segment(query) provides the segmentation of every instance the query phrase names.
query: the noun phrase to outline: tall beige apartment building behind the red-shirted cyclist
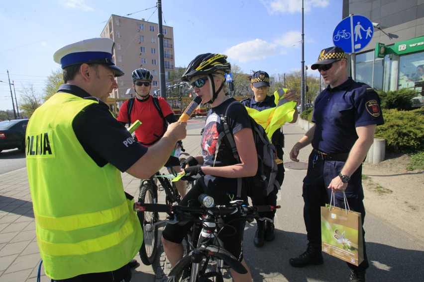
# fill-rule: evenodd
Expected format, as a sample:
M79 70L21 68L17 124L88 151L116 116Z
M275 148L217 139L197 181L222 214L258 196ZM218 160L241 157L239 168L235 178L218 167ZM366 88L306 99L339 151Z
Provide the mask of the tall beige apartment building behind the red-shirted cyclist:
M125 75L116 77L119 89L115 89L111 98L131 98L134 96L132 89L131 72L138 68L150 70L153 74L153 93L159 90L159 24L111 15L107 21L101 37L111 38L115 42L113 60ZM174 70L174 29L171 26L162 26L165 79L168 80ZM168 85L168 83L166 83Z

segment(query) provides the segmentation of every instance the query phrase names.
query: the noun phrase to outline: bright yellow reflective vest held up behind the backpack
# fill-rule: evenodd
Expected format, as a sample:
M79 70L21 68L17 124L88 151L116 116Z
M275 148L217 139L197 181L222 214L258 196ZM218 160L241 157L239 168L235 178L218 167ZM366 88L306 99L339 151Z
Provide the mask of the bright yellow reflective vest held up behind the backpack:
M272 135L277 129L282 127L286 122L291 122L293 120L296 102L289 102L284 98L287 90L288 89L280 88L274 92L274 102L277 105L275 108L258 111L246 107L249 116L265 129L269 140L271 140Z

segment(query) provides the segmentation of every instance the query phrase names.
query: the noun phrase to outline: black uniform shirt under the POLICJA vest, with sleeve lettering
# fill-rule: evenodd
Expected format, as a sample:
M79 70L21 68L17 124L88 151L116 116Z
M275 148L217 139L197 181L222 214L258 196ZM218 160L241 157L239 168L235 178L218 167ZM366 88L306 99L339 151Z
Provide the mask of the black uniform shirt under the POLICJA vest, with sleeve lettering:
M78 113L72 123L75 135L84 150L98 166L103 167L111 163L124 172L147 151L146 147L132 142L127 129L116 121L103 101L91 97L89 93L72 84L62 84L57 92L99 101L99 104L89 105Z

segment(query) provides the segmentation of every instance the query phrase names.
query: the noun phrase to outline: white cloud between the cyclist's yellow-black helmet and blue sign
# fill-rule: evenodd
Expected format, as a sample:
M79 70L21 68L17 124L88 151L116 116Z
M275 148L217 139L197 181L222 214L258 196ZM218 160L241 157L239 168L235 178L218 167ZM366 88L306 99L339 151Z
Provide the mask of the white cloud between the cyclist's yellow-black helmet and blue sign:
M246 41L230 47L225 50L225 54L231 59L245 63L249 61L259 61L277 55L278 51L276 47L276 44L256 38L255 40Z

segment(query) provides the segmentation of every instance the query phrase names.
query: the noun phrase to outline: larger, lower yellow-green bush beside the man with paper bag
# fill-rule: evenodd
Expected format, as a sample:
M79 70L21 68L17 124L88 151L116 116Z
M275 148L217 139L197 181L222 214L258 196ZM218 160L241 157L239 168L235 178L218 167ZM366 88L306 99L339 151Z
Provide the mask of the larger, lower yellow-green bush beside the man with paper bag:
M386 139L386 148L411 152L424 149L424 108L413 111L383 110L384 125L378 126L376 138Z

